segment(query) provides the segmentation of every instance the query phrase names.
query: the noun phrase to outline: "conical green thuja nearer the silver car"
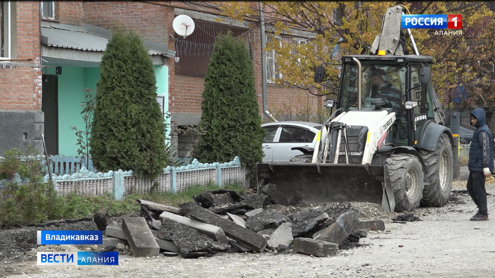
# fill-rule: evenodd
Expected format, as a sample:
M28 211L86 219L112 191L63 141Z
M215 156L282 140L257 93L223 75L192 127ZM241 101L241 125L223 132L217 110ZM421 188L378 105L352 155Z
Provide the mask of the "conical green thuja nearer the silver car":
M202 162L239 156L245 166L261 162L261 128L251 58L245 43L230 33L219 36L204 79L201 121L206 133L198 144Z

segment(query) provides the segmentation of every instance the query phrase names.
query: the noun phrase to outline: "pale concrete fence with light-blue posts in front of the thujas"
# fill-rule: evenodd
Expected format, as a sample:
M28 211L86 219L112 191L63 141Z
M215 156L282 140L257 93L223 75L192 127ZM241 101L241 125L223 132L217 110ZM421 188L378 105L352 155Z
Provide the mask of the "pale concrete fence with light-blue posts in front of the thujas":
M122 199L125 193L147 193L153 188L158 192L175 193L187 189L192 185L205 185L214 182L218 186L227 183L241 183L247 185L247 167L241 166L239 157L225 163L199 163L197 159L187 166L168 166L155 179L137 178L133 171L108 171L94 173L82 167L79 173L72 175L52 174L53 186L62 196L71 192L78 195L102 195L112 193L114 199ZM45 176L48 182L49 175Z

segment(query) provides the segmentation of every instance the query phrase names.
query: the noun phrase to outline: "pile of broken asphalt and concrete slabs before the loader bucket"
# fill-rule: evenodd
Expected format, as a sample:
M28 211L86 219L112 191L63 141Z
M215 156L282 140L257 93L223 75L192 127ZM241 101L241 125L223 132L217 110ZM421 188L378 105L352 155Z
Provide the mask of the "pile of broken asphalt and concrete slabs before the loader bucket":
M234 190L203 191L194 202L180 208L145 200L141 217L110 222L107 210L95 215L105 231L102 247L128 255L209 257L219 252L292 253L334 256L339 246L360 246L367 231L385 230L384 222L360 222L347 210L329 215L322 207L308 207L282 214L273 205L289 205L275 185L265 185L260 194L239 195Z

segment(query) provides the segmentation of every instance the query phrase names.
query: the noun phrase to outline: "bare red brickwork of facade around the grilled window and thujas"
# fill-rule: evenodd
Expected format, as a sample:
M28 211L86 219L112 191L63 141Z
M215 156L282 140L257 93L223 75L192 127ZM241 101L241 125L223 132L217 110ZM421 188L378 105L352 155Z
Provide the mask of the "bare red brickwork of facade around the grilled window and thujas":
M84 2L84 22L103 28L124 27L127 30L139 32L144 39L164 43L174 50L174 42L169 35L174 36L172 21L174 8L140 2ZM203 8L204 9L204 8ZM207 11L206 9L204 9ZM197 32L200 32L198 30ZM261 50L259 28L251 31L251 47L253 49L254 71L256 73L256 93L260 113L262 113L262 86L261 86ZM174 59L168 59L169 66L169 112L177 113L201 113L201 94L203 92L203 78L176 76L174 72ZM316 111L316 107L322 104L322 99L314 97L293 88L267 86L267 102L270 112L273 107L281 112L288 105L300 103L310 105ZM297 104L298 105L298 104ZM294 107L293 110L295 110ZM179 123L180 125L180 123Z

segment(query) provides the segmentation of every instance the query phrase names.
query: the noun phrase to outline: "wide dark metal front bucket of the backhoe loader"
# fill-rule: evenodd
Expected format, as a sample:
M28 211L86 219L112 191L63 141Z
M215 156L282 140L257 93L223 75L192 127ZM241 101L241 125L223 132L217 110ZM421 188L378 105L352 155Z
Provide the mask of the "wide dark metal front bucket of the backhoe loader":
M384 166L362 164L258 163L258 185L274 184L288 200L318 204L370 202L394 211L392 186ZM387 175L388 176L388 175ZM382 182L383 181L383 182Z

